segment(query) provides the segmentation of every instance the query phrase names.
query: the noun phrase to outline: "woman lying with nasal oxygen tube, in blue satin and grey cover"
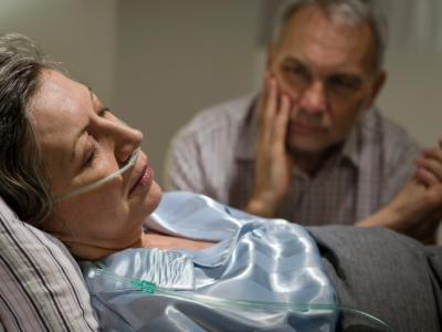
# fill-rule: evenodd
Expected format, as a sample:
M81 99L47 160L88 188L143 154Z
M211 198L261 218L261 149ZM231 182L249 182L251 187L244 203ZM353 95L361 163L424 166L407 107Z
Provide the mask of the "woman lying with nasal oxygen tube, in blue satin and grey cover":
M104 330L386 326L346 305L400 331L441 328L441 248L380 228L305 229L190 193L160 203L141 139L32 41L0 38L0 195L82 260ZM441 148L418 164L399 196L361 225L417 227L438 211ZM134 289L141 279L172 291L150 297L139 291L146 283ZM296 303L309 308L287 309Z

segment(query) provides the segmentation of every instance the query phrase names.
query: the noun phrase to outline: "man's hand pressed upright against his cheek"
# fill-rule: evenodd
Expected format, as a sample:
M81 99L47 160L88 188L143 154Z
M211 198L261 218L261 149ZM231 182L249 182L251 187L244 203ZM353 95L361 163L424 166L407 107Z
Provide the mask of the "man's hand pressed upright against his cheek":
M285 142L291 116L290 97L281 92L273 76L265 80L259 101L259 139L254 189L245 210L274 217L290 187L293 160Z

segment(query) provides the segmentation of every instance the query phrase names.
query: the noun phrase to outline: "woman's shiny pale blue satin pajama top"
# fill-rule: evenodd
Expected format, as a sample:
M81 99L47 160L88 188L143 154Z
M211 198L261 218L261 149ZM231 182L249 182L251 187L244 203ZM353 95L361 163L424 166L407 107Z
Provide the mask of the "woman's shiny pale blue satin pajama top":
M107 271L158 287L220 299L336 303L315 241L301 226L264 219L206 196L167 193L146 220L155 229L214 246L200 251L127 249L99 261ZM103 331L334 331L335 311L281 312L210 305L150 295L93 272L83 273Z

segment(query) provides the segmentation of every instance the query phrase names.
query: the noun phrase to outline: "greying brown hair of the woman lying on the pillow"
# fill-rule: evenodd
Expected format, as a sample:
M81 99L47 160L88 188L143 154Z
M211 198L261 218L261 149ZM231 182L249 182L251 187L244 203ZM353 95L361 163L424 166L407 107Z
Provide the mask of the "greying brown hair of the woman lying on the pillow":
M44 69L59 70L32 40L0 35L0 196L21 220L35 226L52 209L29 112Z

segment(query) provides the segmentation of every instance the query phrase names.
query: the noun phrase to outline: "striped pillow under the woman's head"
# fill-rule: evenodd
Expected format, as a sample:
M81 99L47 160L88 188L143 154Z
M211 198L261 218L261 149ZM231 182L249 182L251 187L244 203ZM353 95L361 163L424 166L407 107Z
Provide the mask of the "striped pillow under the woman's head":
M97 331L78 266L0 198L0 320L7 331ZM1 331L0 325L0 331Z

